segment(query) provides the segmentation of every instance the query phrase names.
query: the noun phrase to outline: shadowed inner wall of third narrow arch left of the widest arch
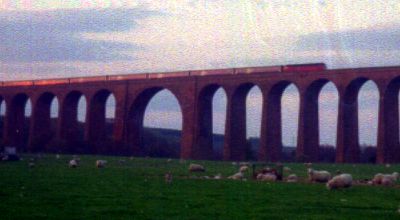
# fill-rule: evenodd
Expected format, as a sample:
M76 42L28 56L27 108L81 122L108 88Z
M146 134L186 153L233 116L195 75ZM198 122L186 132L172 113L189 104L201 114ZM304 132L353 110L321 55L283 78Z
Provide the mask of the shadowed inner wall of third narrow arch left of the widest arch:
M56 121L51 118L51 106L54 100L57 100L54 93L44 92L35 103L32 118L32 135L29 140L29 146L33 152L45 150L54 152L56 150L52 149L55 146L48 146L56 135Z

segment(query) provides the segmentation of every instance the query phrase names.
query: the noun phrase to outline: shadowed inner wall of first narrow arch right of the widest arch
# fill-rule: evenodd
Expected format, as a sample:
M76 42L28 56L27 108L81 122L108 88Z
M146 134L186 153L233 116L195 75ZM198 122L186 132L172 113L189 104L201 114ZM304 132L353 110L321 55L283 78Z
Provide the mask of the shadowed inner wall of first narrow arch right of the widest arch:
M193 154L195 159L222 159L223 141L222 144L214 141L215 108L213 105L214 97L219 90L222 90L226 98L226 91L219 84L204 86L197 97L197 130Z

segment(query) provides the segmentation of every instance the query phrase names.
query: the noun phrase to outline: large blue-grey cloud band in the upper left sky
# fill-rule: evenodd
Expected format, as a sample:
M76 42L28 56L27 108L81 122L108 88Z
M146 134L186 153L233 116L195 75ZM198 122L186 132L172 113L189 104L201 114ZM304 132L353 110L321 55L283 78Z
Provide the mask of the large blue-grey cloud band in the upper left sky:
M136 20L161 15L139 9L55 10L0 13L0 61L132 60L123 51L140 45L88 40L82 33L128 31Z

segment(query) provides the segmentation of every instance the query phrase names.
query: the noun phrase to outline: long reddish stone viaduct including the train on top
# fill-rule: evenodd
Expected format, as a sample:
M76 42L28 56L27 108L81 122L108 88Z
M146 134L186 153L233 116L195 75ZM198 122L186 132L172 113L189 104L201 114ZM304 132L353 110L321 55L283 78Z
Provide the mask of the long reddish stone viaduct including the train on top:
M223 158L245 159L247 93L258 86L263 95L259 160L279 161L282 152L281 96L293 83L299 90L300 113L297 156L318 160L318 95L332 82L339 95L336 162L358 162L357 96L368 80L379 89L377 162L400 162L399 103L400 67L326 69L324 64L197 70L172 73L8 81L0 85L0 103L6 103L3 145L19 151L50 151L50 139L66 143L73 152L77 132L77 105L87 100L84 140L87 153L142 155L144 111L150 99L168 89L177 98L183 117L181 158L209 159L212 155L212 97L223 88L227 95L227 114ZM105 103L113 94L116 100L113 143L98 147L105 139ZM50 134L50 105L59 101L59 116L54 135ZM32 103L29 131L24 131L24 107ZM29 132L29 134L26 134ZM25 134L24 134L25 133ZM24 140L24 135L28 140ZM69 145L71 143L71 145ZM97 143L97 145L96 145ZM53 149L54 150L54 149Z

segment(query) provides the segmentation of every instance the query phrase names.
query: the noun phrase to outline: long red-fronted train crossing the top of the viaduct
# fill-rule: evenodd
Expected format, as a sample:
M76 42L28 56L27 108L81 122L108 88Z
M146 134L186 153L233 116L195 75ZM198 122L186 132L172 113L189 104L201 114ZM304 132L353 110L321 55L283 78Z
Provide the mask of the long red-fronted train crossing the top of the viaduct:
M324 70L326 70L325 63L309 63L309 64L289 64L283 66L193 70L193 71L181 71L181 72L169 72L169 73L140 73L140 74L129 74L129 75L106 75L106 76L73 77L73 78L60 78L60 79L3 81L0 83L0 86L2 87L43 86L43 85L56 85L56 84L73 84L73 83L84 83L84 82L86 83L86 82L135 80L135 79L140 80L140 79L160 79L160 78L211 76L211 75L237 75L237 74L255 74L255 73L318 72Z

